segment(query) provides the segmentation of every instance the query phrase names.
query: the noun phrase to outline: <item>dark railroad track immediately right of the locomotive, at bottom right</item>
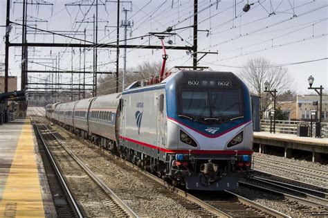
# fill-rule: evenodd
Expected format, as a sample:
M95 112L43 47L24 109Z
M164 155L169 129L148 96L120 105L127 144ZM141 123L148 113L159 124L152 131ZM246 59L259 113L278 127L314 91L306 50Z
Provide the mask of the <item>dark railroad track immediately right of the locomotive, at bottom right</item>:
M327 199L305 194L304 192L300 192L298 190L292 190L293 192L297 192L298 194L304 195L305 198L296 197L292 194L287 194L285 192L277 191L273 188L268 188L268 181L264 181L264 183L266 185L263 185L263 181L261 179L257 179L257 182L251 182L251 183L240 181L239 186L243 188L249 188L251 190L257 190L260 192L273 194L274 196L277 197L276 201L280 201L281 203L291 206L291 208L293 208L294 210L298 210L302 212L303 215L311 216L311 217L328 216ZM291 191L291 189L289 189L289 191ZM320 201L320 203L318 203L318 201Z

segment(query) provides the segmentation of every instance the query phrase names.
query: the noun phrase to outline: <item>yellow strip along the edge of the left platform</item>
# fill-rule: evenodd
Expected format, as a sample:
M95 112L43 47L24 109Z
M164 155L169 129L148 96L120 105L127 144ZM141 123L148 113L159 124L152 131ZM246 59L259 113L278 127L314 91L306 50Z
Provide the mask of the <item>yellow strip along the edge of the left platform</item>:
M33 129L26 119L0 202L0 217L44 217Z

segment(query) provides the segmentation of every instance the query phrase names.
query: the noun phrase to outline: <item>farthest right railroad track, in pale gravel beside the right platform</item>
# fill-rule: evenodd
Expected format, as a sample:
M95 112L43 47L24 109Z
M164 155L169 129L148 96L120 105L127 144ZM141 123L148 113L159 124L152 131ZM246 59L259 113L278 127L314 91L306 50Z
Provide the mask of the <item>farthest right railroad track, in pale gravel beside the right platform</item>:
M328 181L328 172L326 170L313 169L283 161L273 161L268 158L254 157L254 164L258 166L271 167L275 170L297 174L299 176L307 176L318 181Z

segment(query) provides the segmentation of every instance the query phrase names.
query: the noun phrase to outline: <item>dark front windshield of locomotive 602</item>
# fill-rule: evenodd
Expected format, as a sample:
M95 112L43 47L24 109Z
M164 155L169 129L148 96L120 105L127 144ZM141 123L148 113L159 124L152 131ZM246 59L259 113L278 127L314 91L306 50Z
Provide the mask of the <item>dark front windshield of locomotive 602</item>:
M242 115L239 91L181 91L180 112L192 118Z

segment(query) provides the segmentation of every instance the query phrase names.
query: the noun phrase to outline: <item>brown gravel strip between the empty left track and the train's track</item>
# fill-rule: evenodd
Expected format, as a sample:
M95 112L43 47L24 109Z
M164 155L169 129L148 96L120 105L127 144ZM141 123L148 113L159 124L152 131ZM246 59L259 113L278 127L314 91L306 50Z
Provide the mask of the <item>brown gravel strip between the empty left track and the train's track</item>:
M138 215L147 217L197 217L176 201L156 191L154 181L145 178L131 167L119 163L115 158L87 142L80 143L75 136L53 126L75 154L87 163L90 169L106 183L118 197ZM96 160L96 161L95 161Z

